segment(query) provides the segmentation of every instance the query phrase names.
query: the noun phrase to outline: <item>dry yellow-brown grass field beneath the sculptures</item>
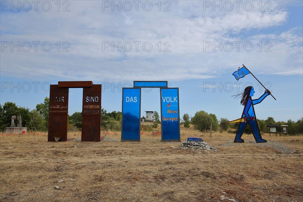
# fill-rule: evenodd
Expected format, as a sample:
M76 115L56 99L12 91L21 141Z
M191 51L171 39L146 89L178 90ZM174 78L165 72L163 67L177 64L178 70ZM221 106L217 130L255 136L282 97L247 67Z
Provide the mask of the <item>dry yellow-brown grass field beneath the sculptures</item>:
M47 135L0 135L0 201L303 201L303 136L233 143L234 134L181 128L218 151L185 149L141 135L121 142L47 142ZM57 188L55 188L57 186Z

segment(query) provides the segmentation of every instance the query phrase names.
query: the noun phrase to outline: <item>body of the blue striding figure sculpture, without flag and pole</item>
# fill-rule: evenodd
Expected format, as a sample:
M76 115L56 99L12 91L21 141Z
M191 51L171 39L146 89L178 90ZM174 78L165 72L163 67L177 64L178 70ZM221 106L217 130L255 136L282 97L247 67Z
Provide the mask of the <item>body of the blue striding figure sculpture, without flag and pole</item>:
M244 92L242 93L242 98L241 98L241 104L244 105L244 110L242 113L242 117L244 118L245 122L241 122L238 127L238 131L235 137L234 142L244 142L243 139L241 139L241 136L244 132L245 127L247 124L249 124L252 133L254 134L256 142L267 142L265 139L262 139L257 118L256 118L256 113L254 109L254 105L257 105L263 101L265 97L270 95L270 91L266 90L265 93L259 97L258 99L251 99L251 96L253 96L255 93L255 89L252 86L247 86L244 89Z

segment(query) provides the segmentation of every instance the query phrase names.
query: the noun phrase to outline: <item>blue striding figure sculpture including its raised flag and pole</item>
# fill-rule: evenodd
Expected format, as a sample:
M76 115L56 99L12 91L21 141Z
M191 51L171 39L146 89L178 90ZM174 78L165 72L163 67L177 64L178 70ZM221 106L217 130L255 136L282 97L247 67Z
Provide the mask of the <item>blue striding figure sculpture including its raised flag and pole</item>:
M235 71L232 75L239 80L240 78L243 78L245 75L251 74L252 76L255 77L254 74L252 74L244 65L242 68L239 68L237 71ZM255 79L257 79L255 77ZM266 87L257 79L257 81L266 89ZM242 116L240 119L236 119L233 121L226 122L224 124L229 124L229 123L239 123L237 134L235 136L234 142L244 142L243 139L241 139L241 136L244 132L245 127L247 124L250 126L252 133L254 134L255 140L258 143L261 142L267 142L265 139L262 138L261 132L258 126L257 122L257 117L255 113L255 108L254 105L257 105L261 103L265 97L268 95L271 95L274 99L276 99L271 92L266 89L265 93L259 97L258 99L251 99L251 96L253 96L255 93L255 89L252 86L247 86L242 92L239 94L235 95L235 97L241 97L241 105L244 106Z

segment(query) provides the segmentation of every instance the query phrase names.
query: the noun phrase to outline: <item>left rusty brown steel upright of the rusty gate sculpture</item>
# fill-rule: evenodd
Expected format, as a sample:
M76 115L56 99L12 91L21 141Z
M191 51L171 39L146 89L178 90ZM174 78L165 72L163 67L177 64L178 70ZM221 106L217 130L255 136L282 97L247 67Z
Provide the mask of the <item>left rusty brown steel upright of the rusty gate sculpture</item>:
M68 88L51 85L49 89L48 141L67 140Z

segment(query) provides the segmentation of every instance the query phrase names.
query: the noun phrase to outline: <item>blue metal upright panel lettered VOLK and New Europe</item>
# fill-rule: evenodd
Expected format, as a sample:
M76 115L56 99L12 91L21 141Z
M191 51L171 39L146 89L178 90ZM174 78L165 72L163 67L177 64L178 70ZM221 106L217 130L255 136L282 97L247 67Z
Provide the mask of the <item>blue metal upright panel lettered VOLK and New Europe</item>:
M161 89L162 141L180 141L179 88Z

